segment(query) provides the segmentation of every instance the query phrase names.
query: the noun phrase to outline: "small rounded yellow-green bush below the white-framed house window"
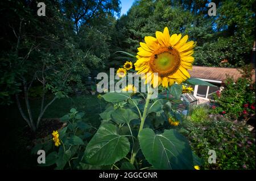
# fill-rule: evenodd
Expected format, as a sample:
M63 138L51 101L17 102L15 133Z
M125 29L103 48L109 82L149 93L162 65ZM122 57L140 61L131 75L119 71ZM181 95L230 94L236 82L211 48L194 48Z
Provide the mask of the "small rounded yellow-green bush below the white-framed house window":
M208 108L203 106L197 106L192 110L191 121L195 123L201 123L208 119Z

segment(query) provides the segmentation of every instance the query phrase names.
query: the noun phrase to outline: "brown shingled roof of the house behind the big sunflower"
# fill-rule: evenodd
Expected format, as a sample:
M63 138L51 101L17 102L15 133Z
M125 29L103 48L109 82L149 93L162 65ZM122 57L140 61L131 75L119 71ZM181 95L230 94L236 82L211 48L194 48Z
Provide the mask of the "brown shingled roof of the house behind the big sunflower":
M255 70L253 80L255 81ZM241 73L236 68L216 68L208 66L193 66L192 70L188 70L191 77L211 79L216 81L224 81L226 74L232 76L235 80L241 77Z

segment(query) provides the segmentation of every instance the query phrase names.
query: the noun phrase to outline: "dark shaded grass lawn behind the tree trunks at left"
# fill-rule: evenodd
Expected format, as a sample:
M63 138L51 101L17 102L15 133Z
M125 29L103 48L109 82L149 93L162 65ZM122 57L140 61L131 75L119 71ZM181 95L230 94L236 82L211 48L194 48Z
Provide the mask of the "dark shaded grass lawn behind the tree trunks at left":
M72 98L55 100L48 107L43 118L62 117L71 108L85 112L85 120L92 123L94 127L100 125L101 107L104 103L97 99L97 95L81 95ZM24 105L24 103L23 103ZM27 140L22 137L22 132L27 126L20 116L16 104L1 107L1 165L10 169L32 169L36 167L36 155L33 156L27 149ZM40 110L40 99L31 100L31 111L38 115ZM26 110L24 110L26 111ZM35 116L36 117L36 116Z

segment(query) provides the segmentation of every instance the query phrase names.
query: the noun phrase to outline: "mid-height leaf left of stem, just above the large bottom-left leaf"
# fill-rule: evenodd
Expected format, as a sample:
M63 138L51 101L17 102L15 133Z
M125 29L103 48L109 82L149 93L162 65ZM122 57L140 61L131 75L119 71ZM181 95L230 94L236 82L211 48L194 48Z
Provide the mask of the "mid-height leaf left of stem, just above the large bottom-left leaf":
M137 113L131 111L130 109L117 109L111 114L112 120L116 123L129 123L131 120L138 119Z

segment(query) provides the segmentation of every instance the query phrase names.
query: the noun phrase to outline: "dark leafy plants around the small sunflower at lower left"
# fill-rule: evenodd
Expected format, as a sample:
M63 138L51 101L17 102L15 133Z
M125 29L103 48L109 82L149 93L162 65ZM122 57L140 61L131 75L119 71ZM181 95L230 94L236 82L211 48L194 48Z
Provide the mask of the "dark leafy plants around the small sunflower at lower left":
M40 166L54 165L55 169L77 169L80 167L82 155L87 144L86 133L92 132L92 126L82 121L84 113L72 108L67 115L61 117L61 121L67 126L59 130L60 146L56 147L51 136L38 139L38 144L32 149L36 154L39 149L46 151L46 163Z

